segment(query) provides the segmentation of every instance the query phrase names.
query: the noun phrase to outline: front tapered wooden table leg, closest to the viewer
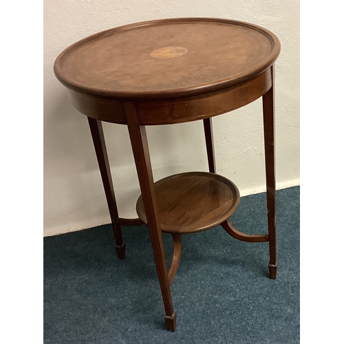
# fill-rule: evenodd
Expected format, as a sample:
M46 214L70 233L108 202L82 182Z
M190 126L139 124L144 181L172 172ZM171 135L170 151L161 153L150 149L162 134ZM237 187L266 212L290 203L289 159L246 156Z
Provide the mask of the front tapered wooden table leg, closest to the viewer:
M165 323L167 330L174 331L176 326L176 314L173 310L170 281L166 266L166 256L164 244L162 241L162 232L158 219L158 206L155 200L155 191L153 186L153 173L151 169L151 160L149 157L149 148L147 142L146 129L138 124L136 118L136 109L132 103L126 103L125 111L128 121L129 136L133 157L138 172L138 180L142 193L144 211L147 216L151 244L155 258L156 268L160 281L162 299L165 308Z

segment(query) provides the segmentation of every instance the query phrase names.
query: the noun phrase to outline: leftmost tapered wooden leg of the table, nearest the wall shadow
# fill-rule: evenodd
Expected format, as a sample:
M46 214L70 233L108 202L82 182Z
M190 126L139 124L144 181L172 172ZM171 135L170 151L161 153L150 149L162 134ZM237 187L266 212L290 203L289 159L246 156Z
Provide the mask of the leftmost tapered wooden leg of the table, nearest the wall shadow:
M114 184L112 183L109 159L107 158L107 149L105 145L102 122L100 122L100 120L95 120L94 118L90 117L88 117L88 122L89 129L91 129L94 149L96 150L100 175L102 176L103 180L105 195L107 197L107 206L109 207L112 229L114 230L116 241L116 252L118 258L124 259L125 243L122 239L122 231L120 229L120 224L118 224L118 210L114 192Z

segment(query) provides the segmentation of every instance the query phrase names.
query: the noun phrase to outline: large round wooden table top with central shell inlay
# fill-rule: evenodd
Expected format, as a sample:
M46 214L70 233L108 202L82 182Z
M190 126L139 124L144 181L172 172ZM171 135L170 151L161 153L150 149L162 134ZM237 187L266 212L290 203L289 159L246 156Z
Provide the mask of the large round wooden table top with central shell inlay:
M74 91L117 99L169 99L229 89L264 72L279 39L228 19L147 21L99 32L67 47L54 64Z

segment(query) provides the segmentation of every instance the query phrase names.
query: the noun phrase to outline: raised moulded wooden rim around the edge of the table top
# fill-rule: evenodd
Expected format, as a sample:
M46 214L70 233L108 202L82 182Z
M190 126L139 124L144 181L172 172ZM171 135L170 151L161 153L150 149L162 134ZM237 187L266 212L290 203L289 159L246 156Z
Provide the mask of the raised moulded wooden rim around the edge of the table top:
M74 49L84 45L85 43L89 43L90 41L94 41L97 39L103 39L107 36L111 36L112 34L118 34L120 32L125 32L126 30L133 30L140 27L144 27L147 25L164 25L166 23L192 23L195 21L205 21L205 22L215 22L215 23L222 23L222 24L235 24L241 25L246 28L250 28L252 30L256 30L264 34L268 37L271 41L272 50L266 58L265 61L260 63L259 65L255 66L255 68L249 70L245 74L238 75L237 77L231 76L231 78L224 78L222 80L216 80L212 83L206 83L204 85L197 85L193 87L180 87L178 89L161 89L161 90L150 90L150 91L138 91L138 92L128 92L128 91L114 91L114 90L106 90L106 89L97 89L95 87L89 87L82 85L80 83L75 82L71 78L68 77L63 72L63 61L64 58L73 52ZM177 99L177 98L186 98L186 97L194 97L194 96L204 96L206 94L211 94L213 92L222 92L226 89L230 89L236 87L237 85L241 85L242 83L246 83L247 81L255 78L261 72L264 72L270 65L272 65L277 57L279 56L279 52L281 50L281 45L279 43L279 39L275 34L266 30L265 28L261 28L258 25L252 23L246 23L244 21L235 21L232 19L217 19L217 18L201 18L201 17L191 17L191 18L173 18L173 19L158 19L154 21L143 21L140 23L133 23L129 25L122 25L117 28L112 28L109 30L105 30L102 32L98 32L93 34L92 36L88 36L85 39L81 39L76 43L67 47L61 54L58 55L56 61L54 63L54 74L56 78L65 85L65 87L69 89L73 89L76 92L80 92L83 94L90 94L93 96L100 96L103 98L114 98L118 100L158 100L158 99Z

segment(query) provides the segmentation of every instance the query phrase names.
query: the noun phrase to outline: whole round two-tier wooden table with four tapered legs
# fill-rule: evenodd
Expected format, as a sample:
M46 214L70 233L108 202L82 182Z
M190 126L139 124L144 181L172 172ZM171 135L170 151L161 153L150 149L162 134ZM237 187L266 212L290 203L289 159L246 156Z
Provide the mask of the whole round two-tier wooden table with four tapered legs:
M243 241L268 241L270 278L276 278L274 63L275 34L226 19L183 18L114 28L74 43L54 64L72 104L89 121L103 179L116 252L125 258L120 225L148 224L168 330L175 330L171 283L180 261L181 235L220 224ZM211 118L263 97L268 234L246 235L230 224L239 191L215 173ZM209 172L153 182L145 127L203 120ZM141 195L138 219L118 217L102 121L127 125ZM174 242L166 266L162 231Z

